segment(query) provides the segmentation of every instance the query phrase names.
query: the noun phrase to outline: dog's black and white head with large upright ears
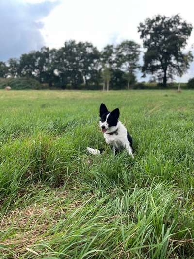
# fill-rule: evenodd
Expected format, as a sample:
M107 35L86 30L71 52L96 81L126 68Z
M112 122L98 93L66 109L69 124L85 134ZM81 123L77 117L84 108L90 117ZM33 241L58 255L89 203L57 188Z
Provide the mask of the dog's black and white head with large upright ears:
M108 111L105 104L100 105L100 127L103 133L113 132L117 129L119 109Z

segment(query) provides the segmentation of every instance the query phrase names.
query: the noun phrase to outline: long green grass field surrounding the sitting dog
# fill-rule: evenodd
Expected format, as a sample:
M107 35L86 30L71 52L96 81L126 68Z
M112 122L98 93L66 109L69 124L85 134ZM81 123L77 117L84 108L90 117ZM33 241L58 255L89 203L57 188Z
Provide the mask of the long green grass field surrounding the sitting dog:
M105 145L101 102L134 160ZM194 91L1 90L0 206L0 258L194 258Z

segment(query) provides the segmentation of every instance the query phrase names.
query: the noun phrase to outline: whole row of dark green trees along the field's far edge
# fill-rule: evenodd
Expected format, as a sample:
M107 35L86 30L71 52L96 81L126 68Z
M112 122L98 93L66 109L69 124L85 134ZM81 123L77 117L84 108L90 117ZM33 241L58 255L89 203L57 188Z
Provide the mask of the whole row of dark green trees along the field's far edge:
M29 77L50 87L77 89L80 85L99 86L103 90L130 88L136 82L136 73L162 83L182 76L193 60L191 51L185 52L192 25L179 15L157 15L147 18L138 26L143 40L143 65L140 66L141 47L132 40L114 46L107 45L99 51L92 43L65 42L60 49L43 47L39 51L22 54L0 62L0 77Z

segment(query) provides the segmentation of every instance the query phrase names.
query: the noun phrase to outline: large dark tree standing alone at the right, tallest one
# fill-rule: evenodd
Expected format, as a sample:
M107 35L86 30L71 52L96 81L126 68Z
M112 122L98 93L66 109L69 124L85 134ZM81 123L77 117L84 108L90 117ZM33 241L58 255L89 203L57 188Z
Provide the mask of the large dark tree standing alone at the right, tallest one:
M191 52L184 53L183 50L191 35L192 25L179 15L147 18L144 23L140 23L138 32L146 49L142 67L144 76L146 73L156 74L163 81L163 86L166 86L168 78L181 75L185 66L189 68L193 57Z

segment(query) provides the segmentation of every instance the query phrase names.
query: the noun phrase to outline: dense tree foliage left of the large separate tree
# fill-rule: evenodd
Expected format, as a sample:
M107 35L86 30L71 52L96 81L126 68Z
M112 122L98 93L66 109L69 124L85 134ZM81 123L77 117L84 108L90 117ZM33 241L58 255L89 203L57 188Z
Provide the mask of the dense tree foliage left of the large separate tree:
M49 84L50 88L101 89L102 70L106 67L110 70L110 76L105 81L110 82L113 89L118 88L118 84L122 89L129 82L130 85L134 83L138 48L135 42L124 41L117 47L107 45L100 53L89 42L70 40L59 50L43 47L40 51L21 55L19 60L10 59L8 75L34 78L40 83Z

